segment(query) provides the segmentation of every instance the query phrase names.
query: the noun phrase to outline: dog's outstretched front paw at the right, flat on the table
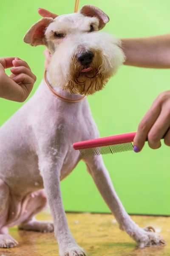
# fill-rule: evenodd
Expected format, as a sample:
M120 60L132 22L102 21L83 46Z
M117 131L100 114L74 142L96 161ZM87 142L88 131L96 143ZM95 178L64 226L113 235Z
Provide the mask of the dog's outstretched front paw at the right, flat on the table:
M145 227L142 230L142 233L133 234L132 237L140 248L166 244L164 239L155 233L155 229L153 227Z

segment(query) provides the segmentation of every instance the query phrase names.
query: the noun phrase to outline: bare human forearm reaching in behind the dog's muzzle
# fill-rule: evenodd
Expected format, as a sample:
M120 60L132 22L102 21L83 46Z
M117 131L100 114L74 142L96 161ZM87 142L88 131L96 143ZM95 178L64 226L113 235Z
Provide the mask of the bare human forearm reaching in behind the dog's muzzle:
M144 38L122 38L125 65L170 68L170 34Z

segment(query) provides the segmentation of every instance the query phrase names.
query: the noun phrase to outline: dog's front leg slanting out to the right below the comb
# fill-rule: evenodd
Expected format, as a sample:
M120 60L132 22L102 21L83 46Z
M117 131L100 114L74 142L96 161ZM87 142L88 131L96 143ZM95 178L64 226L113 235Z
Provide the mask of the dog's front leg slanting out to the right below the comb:
M165 242L161 237L159 237L156 233L150 232L152 228L140 228L127 214L121 201L116 195L102 157L86 157L84 161L87 165L88 172L93 177L100 194L118 221L120 229L125 230L141 248L145 246L164 244Z

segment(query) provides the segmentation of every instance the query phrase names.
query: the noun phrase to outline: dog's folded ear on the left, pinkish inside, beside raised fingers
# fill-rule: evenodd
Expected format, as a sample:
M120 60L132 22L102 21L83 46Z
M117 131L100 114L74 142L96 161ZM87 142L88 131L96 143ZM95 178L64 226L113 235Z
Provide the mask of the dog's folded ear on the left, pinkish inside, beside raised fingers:
M45 45L45 29L53 22L53 18L42 18L26 32L23 41L31 46Z

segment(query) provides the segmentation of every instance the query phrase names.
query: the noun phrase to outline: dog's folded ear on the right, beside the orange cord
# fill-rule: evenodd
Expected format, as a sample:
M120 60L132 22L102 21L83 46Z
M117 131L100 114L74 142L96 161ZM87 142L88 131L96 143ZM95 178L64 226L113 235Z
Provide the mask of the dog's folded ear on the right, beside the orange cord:
M109 22L109 17L105 12L89 4L82 6L79 13L88 17L97 17L99 19L99 30L104 28L105 24Z

